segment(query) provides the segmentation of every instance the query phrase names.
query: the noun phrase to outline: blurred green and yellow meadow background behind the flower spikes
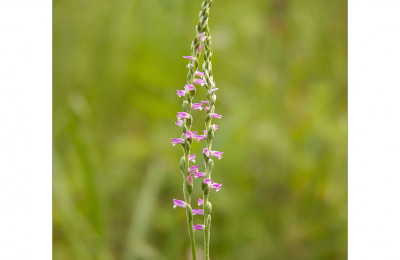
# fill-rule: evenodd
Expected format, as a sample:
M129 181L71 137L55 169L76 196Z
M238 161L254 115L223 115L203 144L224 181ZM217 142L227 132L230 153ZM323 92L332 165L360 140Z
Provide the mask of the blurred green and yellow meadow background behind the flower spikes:
M170 138L200 5L53 1L54 259L188 259ZM210 28L211 258L346 259L347 2L214 0Z

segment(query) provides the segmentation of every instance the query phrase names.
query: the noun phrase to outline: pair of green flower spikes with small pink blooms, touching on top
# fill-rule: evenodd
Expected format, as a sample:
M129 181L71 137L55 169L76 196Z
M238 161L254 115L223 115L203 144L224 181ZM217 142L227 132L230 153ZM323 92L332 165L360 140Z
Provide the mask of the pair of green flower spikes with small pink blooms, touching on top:
M215 87L212 74L212 50L211 50L211 35L208 27L209 10L212 0L204 0L199 14L199 23L196 26L196 36L192 41L191 55L183 56L189 61L186 65L188 68L187 83L183 90L177 90L177 95L183 98L182 112L177 113L177 122L175 124L182 128L182 135L179 138L172 138L171 144L181 145L184 155L180 160L180 170L183 176L183 194L184 200L173 200L173 207L181 207L186 209L186 217L189 229L189 238L192 248L192 258L196 259L196 246L194 238L194 230L204 231L204 255L205 259L210 259L210 226L211 226L211 210L212 205L209 202L209 192L214 189L219 191L222 184L215 183L211 179L211 172L214 166L212 157L222 158L223 152L212 150L212 140L214 132L218 130L218 125L212 124L213 119L221 119L221 115L215 113L215 92L218 88ZM202 71L199 68L199 59L203 54ZM200 100L197 103L193 102L197 92L196 88L205 88L207 90L207 100ZM198 134L197 131L191 131L193 123L193 110L205 111L205 130L203 134ZM195 154L190 155L190 148L193 140L197 142L205 141L203 149L203 158L205 171L199 171L199 165L190 166L189 162L195 163ZM198 206L203 206L202 209L192 209L191 195L193 191L194 180L203 179L200 182L203 190L203 198L198 200ZM193 180L194 179L194 180ZM204 218L203 224L193 225L193 216L200 215Z

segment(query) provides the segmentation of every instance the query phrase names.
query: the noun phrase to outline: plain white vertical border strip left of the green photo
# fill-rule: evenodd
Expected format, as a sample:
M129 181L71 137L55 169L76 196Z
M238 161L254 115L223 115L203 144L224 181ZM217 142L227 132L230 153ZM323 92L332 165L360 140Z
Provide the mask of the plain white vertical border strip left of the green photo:
M51 259L51 0L0 1L0 259Z

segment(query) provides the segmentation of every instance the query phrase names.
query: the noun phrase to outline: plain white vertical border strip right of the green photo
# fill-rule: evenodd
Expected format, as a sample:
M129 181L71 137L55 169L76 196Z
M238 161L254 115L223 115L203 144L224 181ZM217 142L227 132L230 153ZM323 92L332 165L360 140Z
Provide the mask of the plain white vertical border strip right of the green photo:
M349 259L400 259L400 1L348 6Z

